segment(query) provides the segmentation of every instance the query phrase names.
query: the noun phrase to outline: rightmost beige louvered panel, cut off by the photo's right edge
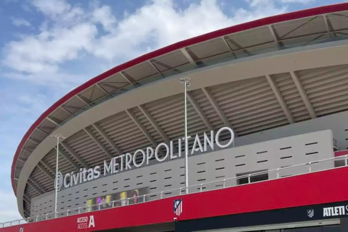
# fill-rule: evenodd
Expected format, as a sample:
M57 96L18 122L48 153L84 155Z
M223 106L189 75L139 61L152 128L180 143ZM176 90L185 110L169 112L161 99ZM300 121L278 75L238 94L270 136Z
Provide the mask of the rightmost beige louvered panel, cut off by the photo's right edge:
M348 109L348 65L300 71L297 74L317 116Z

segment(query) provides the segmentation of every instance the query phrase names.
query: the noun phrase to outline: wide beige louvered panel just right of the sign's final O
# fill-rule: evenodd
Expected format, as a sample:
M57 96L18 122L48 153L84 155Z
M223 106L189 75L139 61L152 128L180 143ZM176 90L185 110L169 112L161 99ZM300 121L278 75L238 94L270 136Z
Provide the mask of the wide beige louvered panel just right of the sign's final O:
M258 128L263 122L272 127L272 122L285 118L265 77L214 86L211 91L238 134L239 131L244 133L244 130Z

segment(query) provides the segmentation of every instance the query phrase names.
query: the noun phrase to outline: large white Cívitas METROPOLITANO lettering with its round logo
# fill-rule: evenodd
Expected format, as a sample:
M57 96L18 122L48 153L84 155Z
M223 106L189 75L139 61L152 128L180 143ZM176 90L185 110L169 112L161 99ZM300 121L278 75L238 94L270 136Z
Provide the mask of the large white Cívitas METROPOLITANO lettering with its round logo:
M219 140L220 134L223 131L228 131L230 133L230 140L224 144L221 144L221 141ZM206 152L208 149L208 146L211 147L212 150L214 150L214 145L216 144L218 147L226 148L229 145L232 144L234 141L234 132L229 127L222 127L218 131L216 131L216 134L214 136L214 131L210 131L210 135L207 135L207 133L204 132L203 134L203 145L200 141L199 135L196 134L195 141L193 142L193 146L191 149L191 155L195 152ZM191 136L188 136L188 139L190 139ZM175 159L182 156L182 144L184 142L184 138L178 139L178 153L174 155L174 143L173 141L170 141L169 145L166 143L160 143L157 145L155 149L152 147L147 147L146 151L142 149L138 149L134 152L134 154L125 153L122 155L118 155L116 157L111 158L109 161L104 160L104 176L108 174L116 174L119 171L129 170L132 169L132 167L141 167L145 163L146 165L149 165L150 160L155 157L158 162L163 162L168 157L170 159ZM163 148L163 149L162 149ZM161 152L166 151L164 155L159 155ZM141 158L141 159L139 159ZM136 162L136 160L140 160ZM120 163L125 163L125 168L123 165L120 165ZM94 179L97 179L101 176L101 166L97 165L94 168L80 168L80 171L78 173L75 173L72 171L71 173L66 173L63 177L62 173L58 173L58 191L64 188L69 188L71 186L75 186L78 184L82 184L88 181L92 181Z

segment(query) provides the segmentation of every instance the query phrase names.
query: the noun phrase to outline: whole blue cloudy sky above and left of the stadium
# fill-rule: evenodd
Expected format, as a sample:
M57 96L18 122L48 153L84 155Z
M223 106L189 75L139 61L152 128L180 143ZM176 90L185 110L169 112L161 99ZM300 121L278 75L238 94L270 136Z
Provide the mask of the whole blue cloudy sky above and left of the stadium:
M171 43L339 0L0 0L0 222L20 218L19 142L71 89Z

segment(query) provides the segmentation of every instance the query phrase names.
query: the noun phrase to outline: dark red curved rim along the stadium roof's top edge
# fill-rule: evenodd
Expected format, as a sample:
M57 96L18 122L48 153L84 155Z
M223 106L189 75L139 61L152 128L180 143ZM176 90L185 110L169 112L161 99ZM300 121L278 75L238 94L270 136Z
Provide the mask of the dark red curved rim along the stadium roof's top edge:
M180 49L180 48L188 47L188 46L200 43L200 42L204 42L207 40L222 37L222 36L227 35L227 34L241 32L241 31L245 31L245 30L249 30L249 29L253 29L256 27L265 26L265 25L269 25L269 24L275 24L275 23L280 23L280 22L285 22L285 21L291 21L294 19L300 19L300 18L315 16L315 15L323 15L323 14L333 13L333 12L337 12L337 11L344 11L344 10L348 10L348 2L295 11L295 12L291 12L291 13L271 16L271 17L262 18L262 19L258 19L255 21L227 27L224 29L220 29L217 31L213 31L213 32L204 34L204 35L199 35L199 36L194 37L194 38L183 40L183 41L174 43L172 45L169 45L167 47L152 51L148 54L137 57L131 61L128 61L128 62L123 63L121 65L118 65L116 67L113 67L112 69L90 79L89 81L85 82L84 84L71 90L68 94L63 96L56 103L54 103L51 107L49 107L44 113L42 113L40 115L40 117L33 123L33 125L31 125L29 130L25 133L24 137L22 138L21 142L19 143L19 145L17 147L16 153L15 153L15 156L14 156L14 159L12 162L12 166L11 166L11 184L12 184L12 188L13 188L14 193L16 194L16 186L15 186L15 179L14 179L16 162L17 162L17 159L19 157L19 154L20 154L25 142L30 137L32 132L35 130L35 128L37 128L40 125L40 123L46 117L48 117L49 114L51 114L53 111L55 111L60 105L64 104L70 98L77 95L81 91L87 89L88 87L96 84L97 82L99 82L105 78L108 78L111 75L118 73L122 70L125 70L129 67L140 64L144 61L147 61L147 60L153 59L155 57L170 53L170 52L175 51L175 50Z

